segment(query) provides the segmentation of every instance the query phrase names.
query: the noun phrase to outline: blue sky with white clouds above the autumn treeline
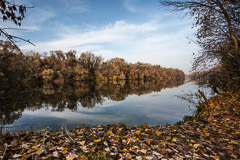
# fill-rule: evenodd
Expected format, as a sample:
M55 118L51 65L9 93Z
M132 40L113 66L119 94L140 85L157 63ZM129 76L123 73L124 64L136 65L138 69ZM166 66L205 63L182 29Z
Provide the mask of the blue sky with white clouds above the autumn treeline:
M24 51L76 50L121 57L128 62L191 69L198 47L192 19L160 7L158 0L20 0L28 6L24 31L12 34L35 45L19 43ZM15 27L11 23L1 24Z

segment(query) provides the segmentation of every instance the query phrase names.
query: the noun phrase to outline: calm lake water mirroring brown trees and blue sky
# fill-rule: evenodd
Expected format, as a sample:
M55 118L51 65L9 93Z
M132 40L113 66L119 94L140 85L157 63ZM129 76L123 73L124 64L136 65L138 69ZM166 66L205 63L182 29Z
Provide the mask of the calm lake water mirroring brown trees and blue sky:
M19 87L0 92L1 125L20 129L125 123L174 124L195 108L178 98L197 91L194 83L131 81L78 86Z

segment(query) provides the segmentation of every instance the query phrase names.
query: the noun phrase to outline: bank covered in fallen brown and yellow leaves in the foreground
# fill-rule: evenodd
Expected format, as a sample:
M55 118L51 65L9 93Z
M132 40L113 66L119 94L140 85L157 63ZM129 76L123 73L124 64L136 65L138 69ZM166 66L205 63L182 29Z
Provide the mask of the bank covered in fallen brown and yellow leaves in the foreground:
M1 137L0 159L240 159L240 92L222 93L174 126L123 124Z

